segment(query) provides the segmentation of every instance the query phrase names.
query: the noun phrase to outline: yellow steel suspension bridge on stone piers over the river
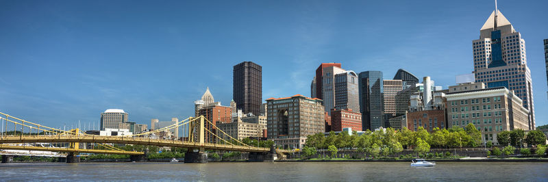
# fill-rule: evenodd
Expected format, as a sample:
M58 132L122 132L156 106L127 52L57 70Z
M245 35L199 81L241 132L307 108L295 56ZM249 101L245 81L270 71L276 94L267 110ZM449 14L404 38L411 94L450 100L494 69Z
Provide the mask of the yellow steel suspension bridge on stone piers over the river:
M79 129L69 131L55 129L39 125L35 122L29 122L21 118L16 118L0 112L0 120L3 120L2 133L0 135L0 149L28 150L28 151L56 151L69 154L78 153L104 153L104 154L125 154L125 155L143 155L140 151L123 151L105 144L141 144L151 146L172 146L181 148L196 148L199 151L219 150L219 151L241 151L254 153L267 153L271 148L249 146L240 140L233 138L219 128L214 127L214 123L207 120L204 116L189 117L168 127L148 131L145 133L135 133L125 136L101 136L82 133ZM155 139L151 136L158 135L162 131L175 129L183 125L188 126L188 135L183 138ZM10 132L8 128L13 129ZM69 148L41 147L41 146L17 146L21 143L69 143ZM105 149L87 149L80 143L94 143L103 146ZM289 150L276 149L276 153L292 153Z

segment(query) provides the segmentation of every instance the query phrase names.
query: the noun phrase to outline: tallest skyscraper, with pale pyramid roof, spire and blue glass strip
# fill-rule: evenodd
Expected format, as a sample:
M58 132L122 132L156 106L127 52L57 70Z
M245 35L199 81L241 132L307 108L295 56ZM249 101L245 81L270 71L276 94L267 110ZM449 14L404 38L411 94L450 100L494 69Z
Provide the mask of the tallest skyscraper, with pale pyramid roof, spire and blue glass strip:
M472 41L476 82L487 88L503 86L514 91L530 112L529 129L535 129L533 85L527 67L525 40L510 21L496 8Z

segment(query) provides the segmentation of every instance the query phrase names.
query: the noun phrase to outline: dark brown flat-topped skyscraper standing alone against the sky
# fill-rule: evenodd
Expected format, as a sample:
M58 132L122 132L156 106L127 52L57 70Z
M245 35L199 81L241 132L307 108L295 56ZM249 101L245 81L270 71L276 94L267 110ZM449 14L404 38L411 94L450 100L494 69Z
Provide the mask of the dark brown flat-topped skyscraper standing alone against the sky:
M260 116L262 104L262 66L253 62L236 64L233 70L233 98L245 114Z

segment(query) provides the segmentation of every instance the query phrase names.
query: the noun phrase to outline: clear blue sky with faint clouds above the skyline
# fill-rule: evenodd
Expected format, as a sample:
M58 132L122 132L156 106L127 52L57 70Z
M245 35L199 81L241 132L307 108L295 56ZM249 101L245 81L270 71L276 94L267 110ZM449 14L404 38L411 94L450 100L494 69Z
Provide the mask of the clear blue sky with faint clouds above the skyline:
M537 125L548 124L548 1L500 0L526 42ZM471 73L493 1L0 1L0 112L51 127L120 108L150 124L193 114L209 86L232 99L232 66L263 69L263 99L310 96L321 62L398 68L436 85ZM543 112L544 111L544 112Z

